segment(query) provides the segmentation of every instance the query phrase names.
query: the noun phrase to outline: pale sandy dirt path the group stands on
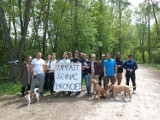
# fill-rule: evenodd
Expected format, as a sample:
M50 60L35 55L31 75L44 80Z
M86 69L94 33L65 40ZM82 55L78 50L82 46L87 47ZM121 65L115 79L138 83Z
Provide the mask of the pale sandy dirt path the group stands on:
M121 96L119 101L90 100L85 91L77 98L46 96L29 107L23 98L0 98L0 120L160 120L160 72L139 65L136 73L131 102Z

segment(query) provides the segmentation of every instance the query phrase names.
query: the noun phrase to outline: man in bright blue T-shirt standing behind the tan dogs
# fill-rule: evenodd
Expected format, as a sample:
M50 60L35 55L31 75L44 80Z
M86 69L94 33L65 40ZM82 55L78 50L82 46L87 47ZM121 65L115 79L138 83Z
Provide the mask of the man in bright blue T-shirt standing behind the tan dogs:
M104 77L105 77L105 86L106 86L105 89L107 89L108 87L109 79L111 80L112 84L115 83L115 74L117 71L116 66L117 66L116 61L112 59L112 55L107 54L107 60L104 61Z

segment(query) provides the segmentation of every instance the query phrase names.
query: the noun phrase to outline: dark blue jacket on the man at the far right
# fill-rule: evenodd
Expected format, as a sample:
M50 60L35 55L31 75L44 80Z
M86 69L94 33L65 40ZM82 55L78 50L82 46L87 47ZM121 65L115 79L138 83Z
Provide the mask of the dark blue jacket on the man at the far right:
M135 60L127 60L123 65L124 69L126 69L126 75L135 75L135 70L138 68ZM133 71L130 73L127 69L132 69Z

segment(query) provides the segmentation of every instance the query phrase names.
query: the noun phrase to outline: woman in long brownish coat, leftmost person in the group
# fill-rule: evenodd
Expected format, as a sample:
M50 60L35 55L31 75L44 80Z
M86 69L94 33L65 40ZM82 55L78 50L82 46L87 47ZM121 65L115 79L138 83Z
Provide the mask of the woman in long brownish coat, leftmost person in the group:
M32 61L32 56L28 56L22 65L22 70L19 75L19 78L22 79L21 97L24 96L26 87L27 90L30 90L30 84L32 78L31 61Z

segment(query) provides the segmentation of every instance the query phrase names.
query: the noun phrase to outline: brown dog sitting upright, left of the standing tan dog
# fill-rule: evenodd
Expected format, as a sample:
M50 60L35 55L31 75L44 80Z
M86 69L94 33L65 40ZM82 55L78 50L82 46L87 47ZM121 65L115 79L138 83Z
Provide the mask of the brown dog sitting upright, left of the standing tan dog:
M96 91L96 95L94 96L94 98L96 98L96 96L98 95L98 100L100 100L100 96L103 97L107 97L107 91L105 91L99 84L98 81L95 79L92 79L92 83L94 84L94 89Z

